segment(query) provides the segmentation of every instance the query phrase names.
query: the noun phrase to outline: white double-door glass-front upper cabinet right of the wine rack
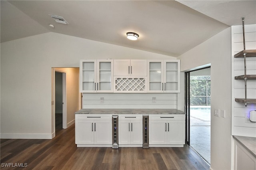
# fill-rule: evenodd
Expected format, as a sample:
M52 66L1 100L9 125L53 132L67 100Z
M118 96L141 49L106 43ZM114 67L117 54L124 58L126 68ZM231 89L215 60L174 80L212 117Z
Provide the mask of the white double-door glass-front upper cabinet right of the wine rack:
M148 60L148 93L180 93L180 60Z

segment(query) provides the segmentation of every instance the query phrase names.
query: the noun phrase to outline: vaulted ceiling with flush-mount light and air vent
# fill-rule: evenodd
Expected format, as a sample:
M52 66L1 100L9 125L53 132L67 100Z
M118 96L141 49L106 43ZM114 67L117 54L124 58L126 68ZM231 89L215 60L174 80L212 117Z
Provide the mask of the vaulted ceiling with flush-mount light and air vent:
M1 0L0 5L1 42L56 32L173 57L241 25L242 17L256 24L255 0ZM138 40L128 40L126 32L136 32Z

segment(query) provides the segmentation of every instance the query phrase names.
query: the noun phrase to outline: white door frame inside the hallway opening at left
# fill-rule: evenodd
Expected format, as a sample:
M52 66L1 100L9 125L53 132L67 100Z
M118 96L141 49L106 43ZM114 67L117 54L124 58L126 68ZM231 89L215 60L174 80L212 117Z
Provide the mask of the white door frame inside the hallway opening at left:
M66 129L68 127L67 124L67 88L66 88L66 72L62 70L58 70L53 68L53 114L54 114L54 134L55 134L55 73L62 73L62 128ZM55 136L55 135L54 135Z

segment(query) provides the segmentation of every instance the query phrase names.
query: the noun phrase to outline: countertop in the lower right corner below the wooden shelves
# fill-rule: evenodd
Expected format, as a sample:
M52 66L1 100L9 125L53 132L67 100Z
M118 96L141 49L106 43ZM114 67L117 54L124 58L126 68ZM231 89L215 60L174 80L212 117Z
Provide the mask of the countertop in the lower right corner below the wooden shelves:
M256 138L246 136L233 136L233 138L256 158Z

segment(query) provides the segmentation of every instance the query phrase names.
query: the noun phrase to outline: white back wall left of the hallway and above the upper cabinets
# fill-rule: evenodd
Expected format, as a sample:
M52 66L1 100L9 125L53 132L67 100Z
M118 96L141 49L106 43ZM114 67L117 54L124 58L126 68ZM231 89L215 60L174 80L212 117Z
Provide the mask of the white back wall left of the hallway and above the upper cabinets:
M1 138L52 138L51 68L107 58L176 59L52 32L1 43Z

